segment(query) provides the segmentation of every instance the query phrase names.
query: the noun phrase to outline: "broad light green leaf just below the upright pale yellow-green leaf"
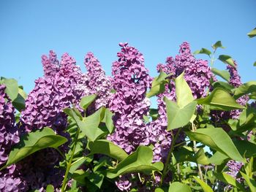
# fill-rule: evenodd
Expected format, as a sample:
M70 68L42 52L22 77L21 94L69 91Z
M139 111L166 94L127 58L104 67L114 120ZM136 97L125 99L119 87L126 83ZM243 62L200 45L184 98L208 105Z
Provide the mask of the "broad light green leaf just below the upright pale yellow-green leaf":
M178 107L176 102L170 101L165 98L166 110L167 110L167 130L173 130L182 126L186 126L190 119L194 115L196 101L192 101L187 106L181 108Z

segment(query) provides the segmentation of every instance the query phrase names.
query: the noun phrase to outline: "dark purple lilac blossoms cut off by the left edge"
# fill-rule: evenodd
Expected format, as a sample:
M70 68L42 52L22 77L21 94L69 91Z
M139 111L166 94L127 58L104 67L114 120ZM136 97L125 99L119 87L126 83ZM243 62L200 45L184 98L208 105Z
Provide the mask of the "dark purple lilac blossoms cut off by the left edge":
M15 109L4 90L5 86L0 85L0 167L7 162L11 147L20 141L15 124ZM0 171L0 191L26 191L26 185L15 165Z

